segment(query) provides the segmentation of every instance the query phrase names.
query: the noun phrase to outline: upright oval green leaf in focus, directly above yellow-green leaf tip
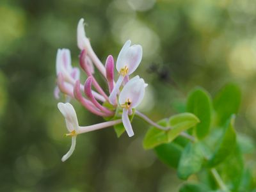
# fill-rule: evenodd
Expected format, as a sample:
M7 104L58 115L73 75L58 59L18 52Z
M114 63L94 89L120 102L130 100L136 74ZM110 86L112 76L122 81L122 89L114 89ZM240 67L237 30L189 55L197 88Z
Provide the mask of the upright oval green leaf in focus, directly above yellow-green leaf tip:
M195 114L200 123L196 125L195 131L198 139L204 138L211 125L211 96L202 88L196 88L189 93L187 111Z

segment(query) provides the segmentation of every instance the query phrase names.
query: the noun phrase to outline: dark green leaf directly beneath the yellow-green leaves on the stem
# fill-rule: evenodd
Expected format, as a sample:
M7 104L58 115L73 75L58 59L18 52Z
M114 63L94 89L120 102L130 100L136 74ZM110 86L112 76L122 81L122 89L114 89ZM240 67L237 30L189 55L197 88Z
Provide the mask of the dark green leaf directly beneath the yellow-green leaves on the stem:
M172 143L162 144L154 148L157 157L163 163L173 168L177 168L183 149L183 147L174 141Z

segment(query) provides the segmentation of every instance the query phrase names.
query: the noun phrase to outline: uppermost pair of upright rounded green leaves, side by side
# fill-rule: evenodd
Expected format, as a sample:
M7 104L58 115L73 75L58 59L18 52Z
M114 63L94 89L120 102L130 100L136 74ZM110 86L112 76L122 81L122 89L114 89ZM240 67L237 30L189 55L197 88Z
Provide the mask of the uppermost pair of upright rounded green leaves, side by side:
M211 95L203 88L195 88L189 93L187 111L195 114L200 123L195 126L195 136L202 140L209 134L212 124L212 106L216 112L218 126L223 126L232 114L236 114L241 102L241 91L236 84L227 84L216 94Z

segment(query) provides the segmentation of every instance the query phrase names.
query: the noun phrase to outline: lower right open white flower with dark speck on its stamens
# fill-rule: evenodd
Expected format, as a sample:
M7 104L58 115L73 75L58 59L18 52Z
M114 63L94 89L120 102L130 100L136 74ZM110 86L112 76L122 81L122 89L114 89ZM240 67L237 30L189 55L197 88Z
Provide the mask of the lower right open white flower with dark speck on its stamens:
M118 101L120 106L123 108L122 122L129 137L134 135L132 125L129 120L129 111L136 108L141 103L145 94L146 86L147 84L145 84L142 78L135 76L125 84L124 88L120 92Z

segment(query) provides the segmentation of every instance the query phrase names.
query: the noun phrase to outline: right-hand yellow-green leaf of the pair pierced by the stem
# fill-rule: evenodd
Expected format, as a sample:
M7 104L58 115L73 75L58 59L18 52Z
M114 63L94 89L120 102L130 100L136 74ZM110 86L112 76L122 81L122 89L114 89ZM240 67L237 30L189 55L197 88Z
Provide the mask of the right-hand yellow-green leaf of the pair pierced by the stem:
M181 132L194 127L198 122L200 122L200 120L192 113L180 113L171 116L169 124L172 129L168 131L168 141L174 140Z

